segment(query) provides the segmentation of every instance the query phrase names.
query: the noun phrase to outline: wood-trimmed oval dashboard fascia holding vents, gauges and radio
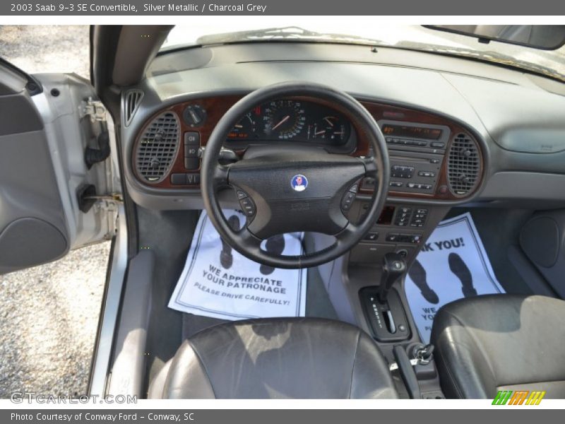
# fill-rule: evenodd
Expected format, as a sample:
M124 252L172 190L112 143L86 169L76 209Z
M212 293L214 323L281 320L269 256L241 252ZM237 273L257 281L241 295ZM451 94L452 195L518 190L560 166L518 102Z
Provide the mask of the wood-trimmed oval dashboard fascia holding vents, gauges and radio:
M218 119L239 96L180 102L148 119L133 144L138 182L161 189L198 189L199 154ZM377 102L362 104L383 132L391 159L390 196L457 200L480 187L484 153L472 131L444 117ZM347 111L316 99L275 99L257 105L224 143L241 157L254 146L311 146L328 153L369 155L369 143ZM374 179L361 182L370 193Z

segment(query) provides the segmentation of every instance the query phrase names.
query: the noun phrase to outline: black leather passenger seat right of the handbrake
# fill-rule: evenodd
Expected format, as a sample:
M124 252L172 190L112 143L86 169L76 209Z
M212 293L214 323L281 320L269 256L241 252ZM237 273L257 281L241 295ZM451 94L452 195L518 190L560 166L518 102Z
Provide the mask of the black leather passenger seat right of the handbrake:
M565 398L565 302L485 295L436 314L434 358L448 398L493 399L499 390Z

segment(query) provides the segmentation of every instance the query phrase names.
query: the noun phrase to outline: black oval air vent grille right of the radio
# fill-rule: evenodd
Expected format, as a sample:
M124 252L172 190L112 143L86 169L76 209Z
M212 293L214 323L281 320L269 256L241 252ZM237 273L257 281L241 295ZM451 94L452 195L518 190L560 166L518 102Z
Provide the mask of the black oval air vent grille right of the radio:
M447 162L447 182L451 193L465 196L477 187L480 161L477 143L466 134L457 134L449 148Z

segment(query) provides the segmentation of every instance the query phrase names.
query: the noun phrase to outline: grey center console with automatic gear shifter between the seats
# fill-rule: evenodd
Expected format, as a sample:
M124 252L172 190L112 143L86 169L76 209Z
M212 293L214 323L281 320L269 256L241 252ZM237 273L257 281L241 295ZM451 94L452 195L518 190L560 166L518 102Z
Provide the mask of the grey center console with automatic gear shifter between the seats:
M352 213L361 220L368 207L368 200L359 199ZM405 296L404 278L449 208L389 202L343 264L341 279L355 322L379 343L391 363L399 393L405 397L444 397L433 356L417 358L417 352L429 348L424 348L420 340Z

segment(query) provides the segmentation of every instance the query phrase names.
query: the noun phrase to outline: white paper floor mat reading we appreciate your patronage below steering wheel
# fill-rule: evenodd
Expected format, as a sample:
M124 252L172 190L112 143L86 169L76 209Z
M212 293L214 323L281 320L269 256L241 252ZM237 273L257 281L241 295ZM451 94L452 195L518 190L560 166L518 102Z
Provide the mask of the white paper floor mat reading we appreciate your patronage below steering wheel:
M244 224L240 211L223 212L234 230ZM274 254L302 254L302 237L302 233L270 237L263 242L263 249ZM306 289L306 269L275 269L246 259L222 242L203 212L169 307L229 320L304 317Z

